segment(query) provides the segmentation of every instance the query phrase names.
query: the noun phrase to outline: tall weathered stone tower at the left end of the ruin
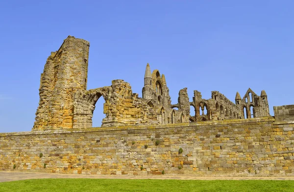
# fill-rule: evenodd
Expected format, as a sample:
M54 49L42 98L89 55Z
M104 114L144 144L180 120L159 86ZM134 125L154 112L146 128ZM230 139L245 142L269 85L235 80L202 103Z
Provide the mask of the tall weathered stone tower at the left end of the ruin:
M41 74L32 130L73 128L73 95L87 89L89 42L68 36L51 52Z

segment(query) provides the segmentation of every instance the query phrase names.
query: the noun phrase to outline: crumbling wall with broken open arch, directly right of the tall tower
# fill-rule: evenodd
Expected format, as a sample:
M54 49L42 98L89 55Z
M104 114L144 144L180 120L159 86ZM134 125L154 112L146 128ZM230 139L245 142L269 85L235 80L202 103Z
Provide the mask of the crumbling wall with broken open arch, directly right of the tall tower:
M154 105L138 98L132 93L129 83L118 79L113 80L111 86L75 94L73 128L92 127L95 104L101 96L105 100L103 113L106 115L102 127L158 123Z

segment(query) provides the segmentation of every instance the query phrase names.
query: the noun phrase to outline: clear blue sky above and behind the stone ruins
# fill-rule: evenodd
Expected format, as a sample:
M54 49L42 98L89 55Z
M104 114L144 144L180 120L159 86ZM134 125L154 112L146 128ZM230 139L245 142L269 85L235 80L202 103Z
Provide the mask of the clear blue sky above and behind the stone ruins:
M273 115L273 106L294 104L293 8L293 0L3 0L0 132L31 130L40 74L68 35L90 42L88 89L123 79L142 96L149 63L165 74L172 103L184 87L191 101L193 90L234 101L250 87L266 90Z

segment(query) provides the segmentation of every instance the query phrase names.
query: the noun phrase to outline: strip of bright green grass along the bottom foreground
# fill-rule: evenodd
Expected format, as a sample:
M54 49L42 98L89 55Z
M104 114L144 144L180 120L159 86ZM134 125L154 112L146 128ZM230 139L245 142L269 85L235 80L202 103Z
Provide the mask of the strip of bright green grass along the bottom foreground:
M30 179L0 183L0 192L293 192L294 181Z

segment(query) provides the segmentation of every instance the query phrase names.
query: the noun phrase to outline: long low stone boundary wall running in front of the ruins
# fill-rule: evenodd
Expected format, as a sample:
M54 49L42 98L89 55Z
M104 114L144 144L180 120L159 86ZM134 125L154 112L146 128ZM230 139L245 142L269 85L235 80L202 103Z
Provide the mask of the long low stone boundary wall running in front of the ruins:
M269 117L1 133L0 170L294 176L293 128Z

